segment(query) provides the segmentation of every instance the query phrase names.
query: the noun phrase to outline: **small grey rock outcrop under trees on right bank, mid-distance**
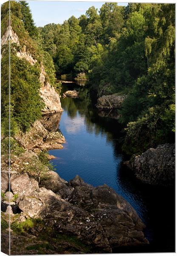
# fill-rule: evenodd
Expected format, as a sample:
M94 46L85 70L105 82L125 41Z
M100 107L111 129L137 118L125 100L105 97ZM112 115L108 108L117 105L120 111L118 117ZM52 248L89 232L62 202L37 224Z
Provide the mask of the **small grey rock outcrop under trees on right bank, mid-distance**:
M126 96L118 96L118 95L103 95L99 99L97 99L96 108L99 110L107 110L121 107L121 103L124 101Z

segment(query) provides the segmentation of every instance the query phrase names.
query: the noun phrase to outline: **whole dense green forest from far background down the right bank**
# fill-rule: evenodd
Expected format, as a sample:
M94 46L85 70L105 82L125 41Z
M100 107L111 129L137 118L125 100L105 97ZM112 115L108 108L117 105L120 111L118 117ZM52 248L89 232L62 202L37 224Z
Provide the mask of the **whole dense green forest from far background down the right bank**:
M105 3L39 28L58 75L84 72L98 95L120 93L124 150L174 141L175 5Z

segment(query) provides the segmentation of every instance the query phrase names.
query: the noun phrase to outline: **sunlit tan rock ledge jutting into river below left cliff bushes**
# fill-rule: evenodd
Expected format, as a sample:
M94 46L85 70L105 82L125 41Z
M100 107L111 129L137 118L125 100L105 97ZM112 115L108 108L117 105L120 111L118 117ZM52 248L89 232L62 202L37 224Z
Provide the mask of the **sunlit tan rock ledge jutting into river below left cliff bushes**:
M41 150L60 149L63 148L62 143L65 143L65 138L61 132L49 132L38 120L34 122L30 131L21 132L15 136L15 139L23 148L31 150L34 150L34 148L40 148Z

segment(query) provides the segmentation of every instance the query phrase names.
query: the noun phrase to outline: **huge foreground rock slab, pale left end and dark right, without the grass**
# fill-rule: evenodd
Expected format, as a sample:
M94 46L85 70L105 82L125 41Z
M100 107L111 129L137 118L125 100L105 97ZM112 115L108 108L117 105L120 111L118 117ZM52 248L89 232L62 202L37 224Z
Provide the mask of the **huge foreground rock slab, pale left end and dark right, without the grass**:
M51 175L54 175L51 173ZM60 177L55 194L22 174L11 178L11 190L25 218L41 218L57 233L76 236L91 252L112 253L119 247L148 244L144 224L133 207L107 185L93 187L79 176L67 183ZM51 186L51 181L46 186ZM22 218L19 216L19 218ZM39 231L32 229L34 235Z

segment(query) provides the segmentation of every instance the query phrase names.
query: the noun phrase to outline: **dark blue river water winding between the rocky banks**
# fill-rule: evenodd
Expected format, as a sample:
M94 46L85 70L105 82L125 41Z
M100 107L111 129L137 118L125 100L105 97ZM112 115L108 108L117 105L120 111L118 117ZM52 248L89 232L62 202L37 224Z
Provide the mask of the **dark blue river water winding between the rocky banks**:
M150 246L140 252L173 252L175 249L175 192L136 180L122 166L122 127L109 117L99 116L89 90L65 84L62 92L77 88L79 99L61 98L63 113L59 130L65 136L62 150L51 150L56 171L69 181L76 175L93 186L107 184L125 198L146 224ZM61 93L62 95L62 93Z

